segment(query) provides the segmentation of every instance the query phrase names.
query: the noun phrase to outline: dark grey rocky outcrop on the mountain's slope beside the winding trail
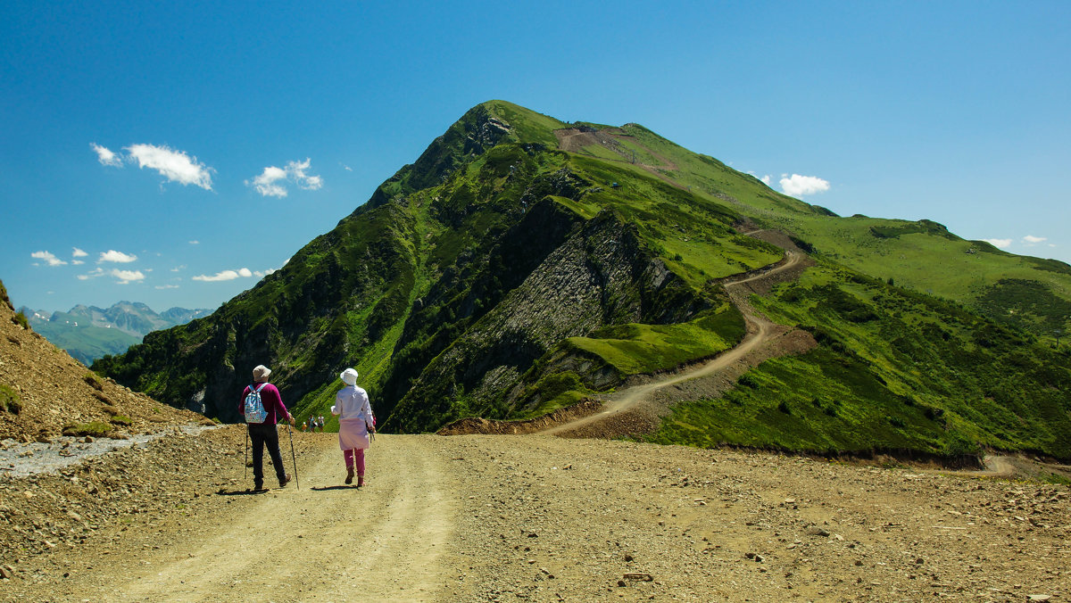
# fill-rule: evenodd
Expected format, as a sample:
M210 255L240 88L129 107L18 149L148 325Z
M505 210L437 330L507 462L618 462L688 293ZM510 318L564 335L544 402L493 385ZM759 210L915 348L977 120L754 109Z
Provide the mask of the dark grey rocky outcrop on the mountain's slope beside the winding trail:
M644 248L633 227L605 213L437 357L388 427L409 431L449 418L456 412L451 401L466 392L480 401L482 416L501 416L516 404L525 372L557 342L606 325L678 322L707 303Z

